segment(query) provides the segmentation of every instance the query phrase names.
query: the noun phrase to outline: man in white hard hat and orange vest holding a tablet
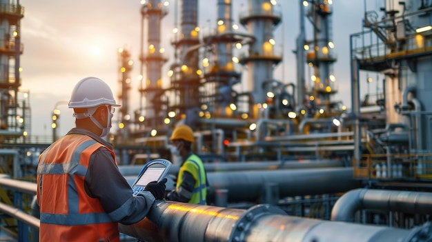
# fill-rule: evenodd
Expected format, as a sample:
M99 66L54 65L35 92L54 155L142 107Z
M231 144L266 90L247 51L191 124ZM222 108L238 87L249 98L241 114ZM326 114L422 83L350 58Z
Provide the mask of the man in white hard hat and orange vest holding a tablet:
M117 222L137 223L155 199L164 198L166 180L132 196L112 145L102 139L119 106L100 79L87 77L75 85L69 108L76 128L39 156L39 241L119 241Z

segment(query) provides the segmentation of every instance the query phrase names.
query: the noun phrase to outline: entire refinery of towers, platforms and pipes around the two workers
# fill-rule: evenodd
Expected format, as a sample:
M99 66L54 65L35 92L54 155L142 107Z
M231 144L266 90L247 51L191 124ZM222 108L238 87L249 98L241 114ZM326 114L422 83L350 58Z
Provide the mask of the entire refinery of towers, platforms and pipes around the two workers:
M119 226L124 241L431 241L432 3L379 2L380 9L365 8L361 32L346 33L351 103L341 103L337 1L293 4L300 12L294 83L274 76L284 59L275 37L284 13L276 1L248 0L233 12L233 1L217 0L211 28L198 22L198 0L171 1L175 12L164 1L143 1L139 64L132 66L134 53L119 50L122 107L109 139L131 183L145 162L171 160L173 128L190 125L210 203L159 201L148 218ZM161 46L168 14L175 16L172 56ZM24 15L19 0L1 0L0 214L2 231L37 241L37 163L29 154L49 143L29 137L30 101L19 75ZM138 90L130 84L132 68L142 77ZM360 97L367 84L360 77L369 75L382 77L382 91ZM139 92L137 109L131 92Z

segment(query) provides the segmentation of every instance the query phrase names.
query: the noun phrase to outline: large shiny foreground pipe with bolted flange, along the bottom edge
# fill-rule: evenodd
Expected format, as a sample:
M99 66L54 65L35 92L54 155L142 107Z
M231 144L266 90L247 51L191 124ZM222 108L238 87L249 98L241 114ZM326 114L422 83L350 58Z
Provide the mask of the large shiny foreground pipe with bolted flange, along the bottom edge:
M146 242L430 241L430 223L411 230L287 216L273 205L248 210L156 201L148 216L121 233Z

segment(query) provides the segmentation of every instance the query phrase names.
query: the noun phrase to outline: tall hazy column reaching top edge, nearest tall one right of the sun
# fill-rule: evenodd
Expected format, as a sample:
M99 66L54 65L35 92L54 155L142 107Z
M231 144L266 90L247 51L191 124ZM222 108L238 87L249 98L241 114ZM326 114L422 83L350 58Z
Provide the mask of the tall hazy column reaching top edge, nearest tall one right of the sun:
M141 88L139 92L142 97L146 97L146 110L139 110L136 114L136 119L140 119L142 115L146 117L146 123L151 127L161 125L161 111L160 101L162 92L162 65L166 63L167 59L163 56L164 48L161 48L161 19L168 14L164 4L161 0L148 0L141 7L142 21L147 19L147 46L141 46ZM143 30L144 35L144 23ZM144 41L144 39L141 39ZM146 50L146 51L144 51ZM146 54L144 54L146 52ZM144 77L144 64L146 65L146 77ZM141 121L139 121L141 122Z

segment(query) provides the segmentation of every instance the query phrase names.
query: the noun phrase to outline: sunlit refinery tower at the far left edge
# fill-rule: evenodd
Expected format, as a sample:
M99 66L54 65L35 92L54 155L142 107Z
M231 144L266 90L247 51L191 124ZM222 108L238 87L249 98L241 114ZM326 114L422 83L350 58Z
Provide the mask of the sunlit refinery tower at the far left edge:
M19 5L19 0L17 3L0 1L0 130L5 134L13 132L22 135L23 130L30 131L28 92L23 93L24 100L21 100L22 93L19 93L19 60L23 53L20 21L24 17L23 13L24 8Z

